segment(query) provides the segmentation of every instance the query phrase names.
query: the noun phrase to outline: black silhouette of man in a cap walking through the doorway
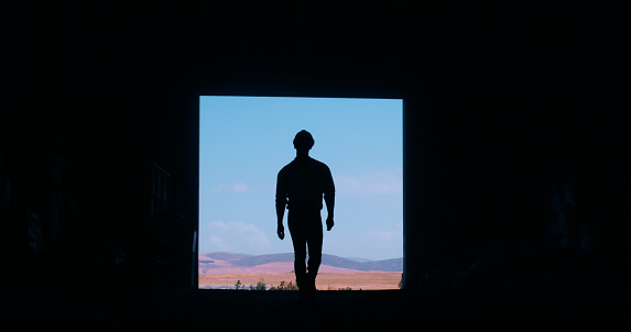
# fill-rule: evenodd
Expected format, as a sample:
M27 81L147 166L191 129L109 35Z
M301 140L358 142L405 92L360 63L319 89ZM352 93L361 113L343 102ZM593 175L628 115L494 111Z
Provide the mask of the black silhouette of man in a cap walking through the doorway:
M315 278L322 262L322 218L323 195L328 215L327 231L334 225L333 209L335 206L335 185L328 166L309 157L314 139L307 131L301 131L294 139L296 158L279 171L276 182L276 217L279 226L276 233L283 240L285 228L283 215L285 206L287 225L294 245L294 272L300 289L301 300L315 296ZM308 247L308 272L305 265Z

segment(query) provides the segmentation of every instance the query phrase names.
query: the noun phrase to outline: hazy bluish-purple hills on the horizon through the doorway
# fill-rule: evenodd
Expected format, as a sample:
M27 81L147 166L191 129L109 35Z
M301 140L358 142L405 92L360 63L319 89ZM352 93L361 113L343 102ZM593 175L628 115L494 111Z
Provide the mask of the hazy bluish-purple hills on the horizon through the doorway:
M281 273L292 272L294 254L244 255L226 252L199 254L199 273ZM323 254L320 272L360 272L383 270L402 272L403 258L370 261L365 258L344 258Z

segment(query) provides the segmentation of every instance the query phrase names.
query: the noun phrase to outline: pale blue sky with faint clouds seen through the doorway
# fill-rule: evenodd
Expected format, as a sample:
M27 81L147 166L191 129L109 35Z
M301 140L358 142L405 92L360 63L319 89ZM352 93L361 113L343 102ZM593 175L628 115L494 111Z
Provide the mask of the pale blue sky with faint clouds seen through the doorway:
M200 253L293 251L289 234L276 237L274 195L304 129L315 140L311 157L329 166L336 186L323 252L403 256L402 100L203 96L199 107Z

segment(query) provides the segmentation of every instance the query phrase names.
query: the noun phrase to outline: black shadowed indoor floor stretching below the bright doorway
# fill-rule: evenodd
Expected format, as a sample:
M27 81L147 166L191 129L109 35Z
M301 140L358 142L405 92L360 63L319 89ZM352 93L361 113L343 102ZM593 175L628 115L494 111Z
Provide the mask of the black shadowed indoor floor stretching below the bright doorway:
M200 327L232 331L483 329L486 331L628 331L628 298L464 296L389 291L319 291L298 305L296 291L153 289L80 298L6 298L3 321L41 327Z

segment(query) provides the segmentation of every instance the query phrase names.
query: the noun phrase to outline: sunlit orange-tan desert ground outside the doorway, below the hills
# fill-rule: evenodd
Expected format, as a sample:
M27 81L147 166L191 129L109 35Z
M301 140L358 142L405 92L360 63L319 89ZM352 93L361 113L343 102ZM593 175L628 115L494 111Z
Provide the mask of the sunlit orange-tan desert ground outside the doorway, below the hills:
M258 273L258 274L225 274L199 275L199 286L235 286L237 280L241 285L257 285L263 278L268 286L278 286L282 280L294 281L293 273ZM350 287L352 290L369 289L399 289L400 272L344 272L319 273L316 287L319 290L338 290Z

